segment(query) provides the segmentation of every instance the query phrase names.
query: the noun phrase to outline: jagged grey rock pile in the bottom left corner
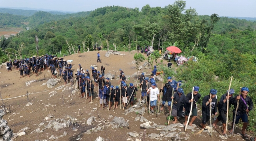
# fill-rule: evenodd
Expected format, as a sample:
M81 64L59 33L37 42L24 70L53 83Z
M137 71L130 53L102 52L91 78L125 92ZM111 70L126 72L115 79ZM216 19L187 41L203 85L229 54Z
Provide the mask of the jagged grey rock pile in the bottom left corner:
M2 119L4 116L4 110L0 110L0 141L10 141L13 136L12 130L7 125L7 121Z

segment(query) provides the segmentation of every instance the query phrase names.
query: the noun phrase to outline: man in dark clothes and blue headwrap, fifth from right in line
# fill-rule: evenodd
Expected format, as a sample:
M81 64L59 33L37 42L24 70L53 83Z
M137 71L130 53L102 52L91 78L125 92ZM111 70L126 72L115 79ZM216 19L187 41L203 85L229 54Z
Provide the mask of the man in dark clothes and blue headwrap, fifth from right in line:
M182 116L183 105L185 103L186 96L184 95L184 91L182 88L177 90L178 92L174 93L174 96L171 97L173 99L173 109L171 116L174 116L173 124L176 124L178 119L177 116Z

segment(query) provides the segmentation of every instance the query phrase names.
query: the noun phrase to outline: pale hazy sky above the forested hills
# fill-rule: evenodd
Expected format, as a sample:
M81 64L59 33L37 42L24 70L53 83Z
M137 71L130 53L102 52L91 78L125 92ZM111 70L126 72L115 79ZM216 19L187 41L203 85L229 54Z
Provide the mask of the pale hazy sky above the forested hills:
M128 8L164 7L175 0L0 0L0 7L44 8L62 11L90 11L105 6ZM256 0L186 0L186 8L195 8L199 15L256 17Z

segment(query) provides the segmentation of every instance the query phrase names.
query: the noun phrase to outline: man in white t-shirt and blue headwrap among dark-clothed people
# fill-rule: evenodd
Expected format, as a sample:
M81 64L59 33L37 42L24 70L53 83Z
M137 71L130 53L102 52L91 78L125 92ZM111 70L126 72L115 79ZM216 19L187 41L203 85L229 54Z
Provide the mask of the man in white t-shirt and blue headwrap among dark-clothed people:
M154 108L156 106L156 100L158 99L158 102L160 101L159 99L159 90L158 88L155 87L155 83L152 83L152 87L150 87L147 90L147 94L149 94L150 97L150 109L151 112L154 113Z

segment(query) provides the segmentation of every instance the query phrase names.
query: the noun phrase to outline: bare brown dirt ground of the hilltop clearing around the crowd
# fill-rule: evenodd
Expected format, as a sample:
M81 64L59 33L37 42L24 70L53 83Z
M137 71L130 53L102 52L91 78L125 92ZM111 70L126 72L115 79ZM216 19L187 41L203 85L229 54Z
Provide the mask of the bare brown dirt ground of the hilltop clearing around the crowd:
M135 51L131 52L120 52L125 55L110 55L109 58L105 57L106 51L100 51L101 55L101 63L97 63L97 51L90 51L80 54L74 54L71 56L64 57L65 59L72 59L73 60L73 71L76 70L78 64L81 64L83 69L90 69L91 65L98 65L97 70L100 70L100 67L103 65L106 68L105 74L111 73L115 74L115 71L119 71L119 68L122 68L125 75L132 75L136 72L136 65L130 64L133 61L133 56L136 53ZM146 55L145 55L146 57ZM160 62L160 61L158 61ZM165 60L164 63L167 65L167 61ZM130 64L130 65L129 65ZM143 64L143 63L142 63ZM146 72L146 76L150 74L149 70L142 69L142 71ZM119 75L119 72L117 72ZM103 109L100 110L99 101L96 98L96 94L93 97L93 103L89 104L89 100L79 98L78 93L72 95L72 90L65 90L63 91L64 96L64 104L62 103L62 90L55 90L56 87L64 85L63 80L57 84L54 88L47 88L46 83L47 80L40 81L43 78L51 78L51 75L48 72L42 71L39 73L39 76L30 75L29 78L19 78L18 70L13 69L11 72L7 72L5 67L0 69L0 91L1 96L4 99L4 104L6 108L10 107L10 113L7 112L3 119L8 121L9 127L13 130L14 133L18 133L18 131L24 127L28 127L26 134L14 139L14 141L35 141L35 140L47 140L47 141L76 141L78 136L80 141L94 141L98 136L102 138L109 139L109 141L127 141L128 138L131 138L135 141L135 138L130 137L127 133L128 132L137 132L143 133L144 129L140 128L140 124L142 122L135 121L136 115L135 112L131 112L128 115L125 115L125 111L121 110L120 108L115 110ZM35 82L31 83L30 85L26 85L26 82L34 80ZM128 80L127 83L134 83L136 78L131 78ZM118 80L113 79L110 81L112 85L117 85ZM159 82L158 87L162 83ZM64 88L71 87L70 84L64 86ZM74 89L74 86L73 88ZM94 89L97 92L97 88ZM43 91L43 92L42 92ZM56 91L56 93L51 96L50 92ZM26 106L28 103L27 97L18 97L21 95L26 95L26 93L35 93L28 96L29 102L33 104L30 106ZM39 92L39 93L36 93ZM137 98L140 97L140 90L137 92ZM5 100L8 98L14 98ZM2 101L1 101L2 105ZM3 105L2 105L3 108ZM92 108L98 108L98 110L92 110ZM113 108L113 106L112 106ZM79 109L81 109L79 111ZM144 117L158 125L165 125L167 122L165 113L161 113L156 117L156 115L148 115L147 113L144 114ZM61 128L58 131L53 129L46 129L42 133L31 133L32 131L36 130L37 128L41 128L38 124L44 122L44 118L47 115L52 114L54 117L52 119L61 119L66 117L66 115L72 116L77 119L76 124L72 124L70 127ZM99 117L99 119L104 119L106 121L112 121L113 117L110 116L117 116L123 117L126 121L128 120L129 126L128 128L117 128L112 129L111 127L105 128L103 131L98 131L97 133L92 134L82 134L87 130L90 130L93 127L96 127L99 122L93 122L92 125L87 125L86 121L89 117L95 116ZM201 114L198 114L198 118L194 122L197 126L201 123ZM184 118L180 118L179 122L183 123ZM47 122L47 121L45 121ZM172 122L172 121L171 121ZM104 124L104 123L103 123ZM220 123L218 124L220 125ZM77 128L77 131L73 131L73 127ZM201 128L199 128L201 129ZM194 135L194 133L190 130L186 132L189 134L189 141L221 141L222 139L219 138L221 135L220 129L214 129L217 133L213 134L213 137L210 137L207 133L203 133L203 135ZM183 132L182 129L180 132ZM199 131L199 130L197 130ZM52 135L60 136L66 132L67 135L63 137L59 137L58 139L49 139ZM160 133L156 129L147 129L146 134L150 133ZM178 131L179 132L179 131ZM31 133L31 134L30 134ZM236 129L235 133L241 133L240 129ZM139 137L137 137L140 139ZM171 138L161 138L161 140L171 141ZM241 137L237 138L229 138L226 141L233 141L239 140L242 141ZM155 139L150 139L146 136L146 141L155 141Z

